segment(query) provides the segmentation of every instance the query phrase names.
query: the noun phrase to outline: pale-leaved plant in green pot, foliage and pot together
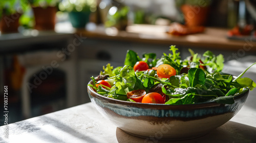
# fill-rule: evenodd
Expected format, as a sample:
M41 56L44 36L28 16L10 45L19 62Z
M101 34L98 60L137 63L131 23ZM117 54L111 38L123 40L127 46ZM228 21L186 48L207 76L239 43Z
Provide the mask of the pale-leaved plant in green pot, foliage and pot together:
M69 19L74 28L84 28L89 22L91 12L96 10L96 1L63 0L59 4L59 10L69 13Z

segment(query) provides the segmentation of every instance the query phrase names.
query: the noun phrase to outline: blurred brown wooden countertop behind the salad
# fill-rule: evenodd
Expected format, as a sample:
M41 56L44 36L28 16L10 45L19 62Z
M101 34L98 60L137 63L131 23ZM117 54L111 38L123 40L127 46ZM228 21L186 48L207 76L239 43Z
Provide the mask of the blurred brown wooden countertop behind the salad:
M230 40L227 38L227 29L206 28L204 33L187 36L173 36L166 33L168 27L154 25L128 26L126 31L117 31L113 28L99 28L77 30L88 38L99 38L119 41L131 41L154 44L184 45L196 47L211 47L221 50L239 50L244 47L256 51L256 42L251 37L243 40Z

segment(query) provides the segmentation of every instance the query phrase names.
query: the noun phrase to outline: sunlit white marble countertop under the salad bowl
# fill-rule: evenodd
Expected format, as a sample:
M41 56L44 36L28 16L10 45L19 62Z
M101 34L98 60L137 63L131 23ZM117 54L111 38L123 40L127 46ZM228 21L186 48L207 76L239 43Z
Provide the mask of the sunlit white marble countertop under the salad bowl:
M226 71L233 71L230 74L234 75L239 74L233 70L232 63L228 65L224 68ZM256 81L255 74L256 70L253 68L248 70L245 76ZM242 109L229 122L204 136L190 140L151 141L132 136L106 120L92 103L87 103L1 126L0 142L255 142L255 103L256 90L253 90L250 91ZM6 129L9 132L8 138L3 135Z

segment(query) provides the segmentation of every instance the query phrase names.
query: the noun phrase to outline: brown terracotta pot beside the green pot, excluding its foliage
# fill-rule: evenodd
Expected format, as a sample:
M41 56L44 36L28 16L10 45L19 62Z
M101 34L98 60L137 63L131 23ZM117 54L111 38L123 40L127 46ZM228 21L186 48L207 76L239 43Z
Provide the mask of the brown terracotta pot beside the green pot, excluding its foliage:
M33 7L36 30L54 30L56 21L56 7Z

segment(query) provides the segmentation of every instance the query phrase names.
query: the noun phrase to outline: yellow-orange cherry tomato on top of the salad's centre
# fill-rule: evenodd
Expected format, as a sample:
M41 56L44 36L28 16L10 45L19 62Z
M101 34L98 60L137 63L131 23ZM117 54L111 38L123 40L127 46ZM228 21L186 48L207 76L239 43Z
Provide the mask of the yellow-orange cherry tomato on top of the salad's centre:
M159 78L169 78L176 75L176 70L168 64L161 64L157 67L157 75Z

